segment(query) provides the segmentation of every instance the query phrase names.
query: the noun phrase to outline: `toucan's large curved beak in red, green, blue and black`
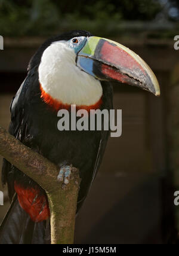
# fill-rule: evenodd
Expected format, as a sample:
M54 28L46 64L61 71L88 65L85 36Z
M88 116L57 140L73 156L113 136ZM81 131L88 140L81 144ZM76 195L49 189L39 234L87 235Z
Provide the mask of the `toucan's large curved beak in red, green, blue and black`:
M98 80L117 81L160 95L152 69L134 51L118 42L91 36L79 51L76 63Z

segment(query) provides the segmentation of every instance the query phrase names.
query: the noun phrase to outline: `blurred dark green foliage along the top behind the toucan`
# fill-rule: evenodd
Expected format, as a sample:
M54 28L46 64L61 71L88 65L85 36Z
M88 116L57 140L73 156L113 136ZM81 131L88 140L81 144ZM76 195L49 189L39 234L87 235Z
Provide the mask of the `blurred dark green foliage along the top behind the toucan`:
M0 34L52 35L86 29L98 35L120 33L125 20L153 20L161 11L156 0L0 0Z

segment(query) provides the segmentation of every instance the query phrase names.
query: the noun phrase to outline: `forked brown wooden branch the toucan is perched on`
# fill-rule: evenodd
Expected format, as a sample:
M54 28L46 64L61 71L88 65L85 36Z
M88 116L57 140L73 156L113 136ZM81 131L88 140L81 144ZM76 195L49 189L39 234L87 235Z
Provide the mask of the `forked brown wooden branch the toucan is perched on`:
M0 127L0 155L37 182L47 193L51 212L51 243L73 243L79 172L73 168L66 189L57 181L59 169Z

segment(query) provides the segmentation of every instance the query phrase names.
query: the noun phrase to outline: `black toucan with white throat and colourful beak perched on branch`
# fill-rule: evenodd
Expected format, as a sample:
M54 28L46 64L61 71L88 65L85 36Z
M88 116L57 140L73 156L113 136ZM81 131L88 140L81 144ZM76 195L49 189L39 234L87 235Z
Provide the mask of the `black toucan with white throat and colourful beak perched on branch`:
M57 164L64 185L70 167L79 169L77 212L100 167L110 130L59 131L57 112L70 112L71 105L87 111L113 109L112 82L160 95L155 74L133 51L87 31L71 31L41 45L11 102L11 135ZM2 183L8 185L11 206L1 225L0 243L50 243L45 191L5 159Z

